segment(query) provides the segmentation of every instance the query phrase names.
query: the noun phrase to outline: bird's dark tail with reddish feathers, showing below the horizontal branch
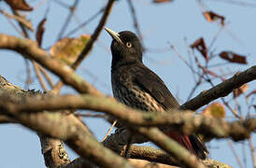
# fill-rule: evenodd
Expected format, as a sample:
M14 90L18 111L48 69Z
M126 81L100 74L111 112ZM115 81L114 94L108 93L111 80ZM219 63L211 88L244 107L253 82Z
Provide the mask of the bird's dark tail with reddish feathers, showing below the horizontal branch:
M186 147L192 154L197 156L199 159L206 159L206 146L199 139L197 139L197 136L188 136L186 134L180 134L175 131L165 134L176 140L181 146Z

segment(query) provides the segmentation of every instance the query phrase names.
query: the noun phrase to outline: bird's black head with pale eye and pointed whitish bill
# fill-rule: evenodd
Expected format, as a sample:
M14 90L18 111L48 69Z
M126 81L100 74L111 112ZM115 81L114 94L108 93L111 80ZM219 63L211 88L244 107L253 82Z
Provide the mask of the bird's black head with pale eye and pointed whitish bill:
M142 63L142 46L138 37L130 31L116 33L105 28L112 36L112 68L130 63Z

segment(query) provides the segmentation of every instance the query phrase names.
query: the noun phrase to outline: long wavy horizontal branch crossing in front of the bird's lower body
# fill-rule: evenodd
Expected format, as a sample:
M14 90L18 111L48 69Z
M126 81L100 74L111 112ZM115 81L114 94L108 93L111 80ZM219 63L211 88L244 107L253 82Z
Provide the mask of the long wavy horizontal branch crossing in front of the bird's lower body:
M164 113L143 112L129 108L105 97L92 95L63 95L46 97L42 100L27 98L22 105L13 105L0 97L0 106L7 111L21 113L42 110L61 109L90 109L105 112L127 125L136 126L158 126L175 129L179 132L192 134L203 133L207 137L226 138L242 140L256 129L256 119L236 120L227 122L222 119L213 119L204 115L195 116L192 111L169 110Z

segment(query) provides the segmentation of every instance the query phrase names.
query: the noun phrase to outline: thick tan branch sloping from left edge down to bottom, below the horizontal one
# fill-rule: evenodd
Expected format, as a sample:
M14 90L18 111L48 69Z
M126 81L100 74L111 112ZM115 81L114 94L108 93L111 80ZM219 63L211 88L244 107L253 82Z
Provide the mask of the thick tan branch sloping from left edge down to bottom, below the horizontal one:
M1 113L7 111L2 111ZM113 161L117 167L132 167L127 161L103 147L87 130L87 128L73 115L60 113L17 113L10 112L15 119L24 126L39 132L64 140L81 157L102 167L112 167Z

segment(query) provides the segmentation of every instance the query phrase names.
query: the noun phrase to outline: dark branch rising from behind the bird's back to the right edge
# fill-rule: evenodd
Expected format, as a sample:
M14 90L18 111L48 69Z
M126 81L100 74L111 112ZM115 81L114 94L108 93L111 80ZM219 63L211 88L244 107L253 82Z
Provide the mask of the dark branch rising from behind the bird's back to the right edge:
M225 81L221 82L219 85L211 88L210 90L202 91L198 96L181 105L180 109L196 110L203 105L207 105L215 99L227 96L233 90L255 79L256 65L250 67L246 71L236 73L234 77L226 79Z

